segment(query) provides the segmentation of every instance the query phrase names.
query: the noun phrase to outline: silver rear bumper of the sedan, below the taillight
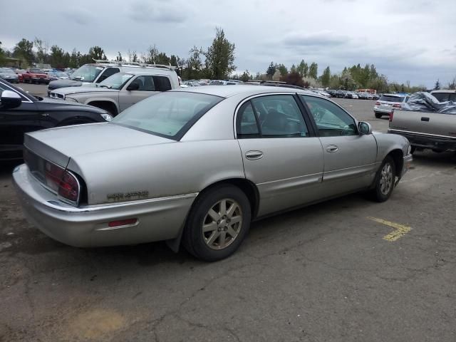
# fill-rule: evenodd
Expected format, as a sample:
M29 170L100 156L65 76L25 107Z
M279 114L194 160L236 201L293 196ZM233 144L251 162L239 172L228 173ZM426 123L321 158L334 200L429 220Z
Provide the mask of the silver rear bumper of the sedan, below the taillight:
M140 244L175 239L197 194L73 207L58 201L23 164L13 172L26 218L44 234L75 247ZM135 224L109 227L108 222L136 218Z

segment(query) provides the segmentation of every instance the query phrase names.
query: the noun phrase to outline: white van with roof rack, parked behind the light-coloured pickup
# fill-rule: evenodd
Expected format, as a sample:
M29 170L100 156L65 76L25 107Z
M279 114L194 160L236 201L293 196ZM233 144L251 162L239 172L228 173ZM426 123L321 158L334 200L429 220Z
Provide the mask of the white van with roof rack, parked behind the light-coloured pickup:
M95 61L95 63L84 64L73 72L69 79L52 81L48 86L48 95L52 90L67 87L80 87L89 83L100 83L115 73L128 73L138 68L151 68L155 71L157 69L174 71L175 66L163 66L160 64L145 64L145 63L130 63L123 61ZM177 77L177 74L176 74ZM177 86L179 81L177 81Z

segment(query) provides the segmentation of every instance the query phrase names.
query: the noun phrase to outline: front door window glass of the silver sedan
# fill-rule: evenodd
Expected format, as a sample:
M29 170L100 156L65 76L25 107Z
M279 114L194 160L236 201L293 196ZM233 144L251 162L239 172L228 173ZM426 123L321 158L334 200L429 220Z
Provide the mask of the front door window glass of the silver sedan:
M329 100L301 95L314 117L321 137L358 135L355 120L345 110Z

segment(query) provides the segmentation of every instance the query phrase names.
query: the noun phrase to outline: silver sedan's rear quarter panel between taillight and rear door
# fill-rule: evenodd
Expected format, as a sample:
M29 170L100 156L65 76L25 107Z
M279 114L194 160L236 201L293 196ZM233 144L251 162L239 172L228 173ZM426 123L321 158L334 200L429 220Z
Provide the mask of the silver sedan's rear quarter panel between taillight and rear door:
M86 182L88 204L115 202L108 195L130 192L147 192L142 198L193 194L219 180L244 178L239 144L233 139L78 155L71 157L68 169Z

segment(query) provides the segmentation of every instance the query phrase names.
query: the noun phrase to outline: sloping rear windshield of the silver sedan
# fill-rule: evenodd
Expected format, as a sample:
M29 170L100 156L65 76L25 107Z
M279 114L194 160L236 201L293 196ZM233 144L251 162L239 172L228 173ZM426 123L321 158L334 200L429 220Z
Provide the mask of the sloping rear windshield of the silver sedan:
M111 123L180 140L207 110L221 100L219 96L200 93L160 93L127 108Z

